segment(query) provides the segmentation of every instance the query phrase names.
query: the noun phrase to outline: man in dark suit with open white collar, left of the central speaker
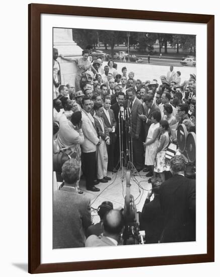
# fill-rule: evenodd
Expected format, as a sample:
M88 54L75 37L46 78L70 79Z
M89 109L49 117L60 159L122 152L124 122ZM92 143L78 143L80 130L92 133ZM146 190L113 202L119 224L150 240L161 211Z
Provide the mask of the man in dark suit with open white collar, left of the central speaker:
M108 170L114 170L114 149L116 141L116 120L113 110L110 109L111 106L111 97L106 96L103 103L103 114L102 118L104 119L105 125L108 128L110 136L110 144L107 146L108 152Z

